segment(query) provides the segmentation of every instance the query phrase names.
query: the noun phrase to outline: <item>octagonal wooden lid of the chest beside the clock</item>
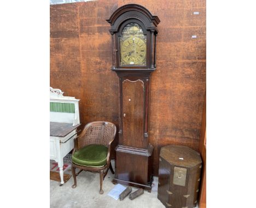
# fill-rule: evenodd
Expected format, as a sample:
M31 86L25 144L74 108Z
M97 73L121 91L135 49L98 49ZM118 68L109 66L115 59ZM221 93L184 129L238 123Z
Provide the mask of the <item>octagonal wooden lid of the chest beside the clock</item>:
M183 145L167 145L162 147L160 157L170 164L187 168L202 163L199 152Z

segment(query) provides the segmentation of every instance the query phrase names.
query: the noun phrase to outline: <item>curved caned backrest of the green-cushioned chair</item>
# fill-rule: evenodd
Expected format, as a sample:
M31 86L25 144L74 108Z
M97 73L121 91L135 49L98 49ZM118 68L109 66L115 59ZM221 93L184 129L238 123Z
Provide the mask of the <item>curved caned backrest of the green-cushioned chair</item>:
M94 121L84 127L78 138L78 149L89 144L102 144L109 146L114 140L117 127L107 121Z

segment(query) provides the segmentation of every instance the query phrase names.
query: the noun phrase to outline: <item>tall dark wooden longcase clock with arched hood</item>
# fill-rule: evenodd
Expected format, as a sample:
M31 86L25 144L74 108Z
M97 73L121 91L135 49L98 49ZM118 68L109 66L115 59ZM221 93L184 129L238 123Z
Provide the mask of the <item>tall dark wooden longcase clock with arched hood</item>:
M151 191L149 82L156 69L156 27L160 20L141 5L127 4L115 10L107 22L112 35L111 69L119 77L119 144L113 183Z

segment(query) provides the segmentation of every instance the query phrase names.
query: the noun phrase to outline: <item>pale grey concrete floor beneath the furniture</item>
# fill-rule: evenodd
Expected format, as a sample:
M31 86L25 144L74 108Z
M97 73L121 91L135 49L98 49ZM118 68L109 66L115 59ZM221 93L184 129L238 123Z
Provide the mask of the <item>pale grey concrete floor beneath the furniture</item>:
M113 164L113 163L112 163ZM114 166L113 166L114 167ZM100 174L91 172L82 172L77 176L77 187L72 188L73 178L69 179L63 186L59 186L59 182L50 180L50 207L51 208L78 208L78 207L117 207L117 208L143 208L165 207L158 200L158 178L154 177L154 186L152 192L144 192L136 199L130 200L129 196L123 201L115 200L109 197L108 192L115 186L111 181L114 178L109 170L103 181L104 193L98 193L100 189ZM132 187L132 192L137 188Z

